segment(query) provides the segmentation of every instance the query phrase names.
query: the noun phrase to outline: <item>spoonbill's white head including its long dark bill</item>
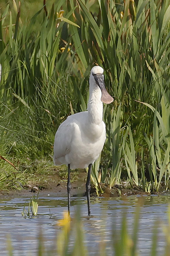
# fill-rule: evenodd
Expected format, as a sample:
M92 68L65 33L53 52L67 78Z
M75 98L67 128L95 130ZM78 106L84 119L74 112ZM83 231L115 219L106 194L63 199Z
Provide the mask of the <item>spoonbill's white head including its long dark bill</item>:
M100 66L94 66L91 69L90 73L90 84L98 85L101 90L101 101L103 103L109 104L114 99L112 96L107 92L105 87L104 75L103 75L103 68Z

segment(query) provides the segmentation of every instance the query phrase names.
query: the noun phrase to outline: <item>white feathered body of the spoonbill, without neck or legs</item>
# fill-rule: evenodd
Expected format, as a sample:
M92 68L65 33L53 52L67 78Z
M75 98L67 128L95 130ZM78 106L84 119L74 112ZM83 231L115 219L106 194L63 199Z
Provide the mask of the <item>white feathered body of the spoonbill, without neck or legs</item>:
M69 116L55 135L54 163L86 168L98 158L105 140L104 122L89 123L87 111Z

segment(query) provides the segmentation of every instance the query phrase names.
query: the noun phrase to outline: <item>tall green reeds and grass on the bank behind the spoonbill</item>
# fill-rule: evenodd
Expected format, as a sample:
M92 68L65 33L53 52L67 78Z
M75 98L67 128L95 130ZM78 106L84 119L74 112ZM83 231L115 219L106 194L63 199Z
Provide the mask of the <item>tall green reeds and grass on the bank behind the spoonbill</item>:
M121 180L147 192L169 189L169 1L44 4L0 3L0 187L55 172L57 127L86 110L89 72L100 65L115 101L104 106L107 140L93 167L96 189Z

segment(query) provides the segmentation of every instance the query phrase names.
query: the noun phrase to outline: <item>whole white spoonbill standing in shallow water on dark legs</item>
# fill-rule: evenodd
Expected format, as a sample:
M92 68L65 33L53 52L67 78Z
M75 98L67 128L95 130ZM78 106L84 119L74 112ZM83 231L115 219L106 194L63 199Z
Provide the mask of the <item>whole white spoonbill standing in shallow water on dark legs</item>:
M71 116L60 124L54 141L54 164L68 165L68 212L70 213L70 169L86 168L88 175L86 195L88 215L90 215L90 175L92 164L99 157L106 140L103 117L103 103L109 104L113 98L105 88L103 68L95 66L90 73L90 93L87 111Z

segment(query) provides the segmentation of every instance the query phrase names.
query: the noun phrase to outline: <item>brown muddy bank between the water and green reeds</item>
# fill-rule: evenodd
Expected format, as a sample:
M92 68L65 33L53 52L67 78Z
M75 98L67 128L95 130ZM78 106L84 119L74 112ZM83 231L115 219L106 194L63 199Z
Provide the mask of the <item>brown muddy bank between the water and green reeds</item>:
M75 175L75 173L73 173ZM16 190L1 190L0 195L3 196L23 196L23 195L31 195L32 192L40 193L41 195L47 194L56 194L57 196L67 196L67 180L62 178L58 174L52 174L49 177L46 177L44 183L36 182L32 184L28 184L25 187L16 189ZM81 170L78 172L77 179L73 179L71 182L71 196L85 196L85 183L86 183L87 173L85 170ZM140 187L131 188L129 184L126 182L122 182L122 184L115 184L112 188L109 188L107 185L101 184L102 192L99 191L99 196L103 197L117 197L117 196L130 196L130 195L150 195L150 194L160 194L166 193L164 189L159 193L151 192L146 193ZM91 196L97 196L96 190L92 184L91 188Z

